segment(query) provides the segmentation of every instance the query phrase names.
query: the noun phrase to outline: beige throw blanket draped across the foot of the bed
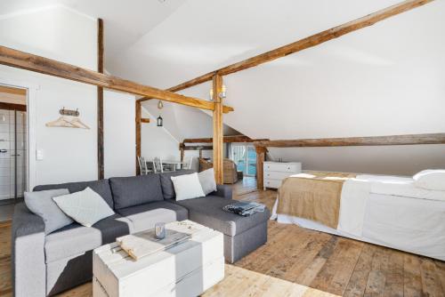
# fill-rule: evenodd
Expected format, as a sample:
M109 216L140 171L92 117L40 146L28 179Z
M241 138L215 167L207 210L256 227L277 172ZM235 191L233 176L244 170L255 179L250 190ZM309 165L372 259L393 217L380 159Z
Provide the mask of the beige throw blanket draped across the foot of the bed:
M277 213L318 221L336 229L344 181L353 173L306 172L292 175L279 188Z

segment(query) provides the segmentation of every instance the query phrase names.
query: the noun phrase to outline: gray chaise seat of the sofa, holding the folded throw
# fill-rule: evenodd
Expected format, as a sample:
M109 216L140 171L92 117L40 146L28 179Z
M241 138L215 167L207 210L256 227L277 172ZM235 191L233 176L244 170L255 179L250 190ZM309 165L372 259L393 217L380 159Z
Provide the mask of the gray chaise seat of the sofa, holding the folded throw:
M230 205L236 201L212 195L182 201L169 200L169 202L187 208L189 220L196 221L231 237L268 221L271 216L267 208L263 213L255 213L249 217L224 212L223 207L225 205Z

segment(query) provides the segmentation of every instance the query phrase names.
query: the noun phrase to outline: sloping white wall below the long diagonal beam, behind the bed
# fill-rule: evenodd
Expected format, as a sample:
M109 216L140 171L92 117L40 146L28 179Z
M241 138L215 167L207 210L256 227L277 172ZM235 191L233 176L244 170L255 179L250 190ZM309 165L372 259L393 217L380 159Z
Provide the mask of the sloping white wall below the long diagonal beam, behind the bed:
M271 140L445 132L444 11L444 2L428 4L225 76L225 101L235 111L224 123ZM206 89L183 93L205 98ZM445 168L445 145L270 151L313 170L410 175Z

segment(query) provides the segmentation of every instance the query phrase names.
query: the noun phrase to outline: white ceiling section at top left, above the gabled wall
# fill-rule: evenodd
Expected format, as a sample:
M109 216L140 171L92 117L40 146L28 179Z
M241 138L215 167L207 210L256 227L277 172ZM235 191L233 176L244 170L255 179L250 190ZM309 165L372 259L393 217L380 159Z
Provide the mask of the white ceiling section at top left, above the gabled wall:
M172 14L185 0L2 0L0 18L65 5L105 23L106 66L152 28Z

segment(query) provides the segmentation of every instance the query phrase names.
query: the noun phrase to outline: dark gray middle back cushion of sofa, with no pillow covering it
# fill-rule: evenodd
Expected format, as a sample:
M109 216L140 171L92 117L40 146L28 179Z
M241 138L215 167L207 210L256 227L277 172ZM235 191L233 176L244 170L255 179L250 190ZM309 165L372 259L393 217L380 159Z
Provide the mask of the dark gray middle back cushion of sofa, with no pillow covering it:
M110 178L109 185L115 209L164 200L158 174Z

